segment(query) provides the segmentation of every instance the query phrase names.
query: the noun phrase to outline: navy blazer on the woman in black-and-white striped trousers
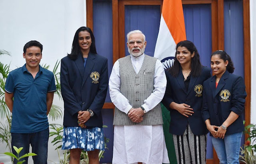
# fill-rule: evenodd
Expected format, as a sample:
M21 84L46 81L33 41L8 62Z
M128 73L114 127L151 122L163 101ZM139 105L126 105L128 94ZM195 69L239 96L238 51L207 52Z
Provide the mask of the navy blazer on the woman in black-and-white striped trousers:
M203 82L211 77L211 70L208 67L202 66L201 76L194 77L191 75L188 92L184 84L182 69L180 68L178 76L172 76L167 70L166 92L162 103L170 110L170 133L174 135L183 135L189 123L194 135L204 135L208 133L206 125L202 119L202 90ZM170 109L170 103L186 103L194 109L194 114L185 117L175 109Z

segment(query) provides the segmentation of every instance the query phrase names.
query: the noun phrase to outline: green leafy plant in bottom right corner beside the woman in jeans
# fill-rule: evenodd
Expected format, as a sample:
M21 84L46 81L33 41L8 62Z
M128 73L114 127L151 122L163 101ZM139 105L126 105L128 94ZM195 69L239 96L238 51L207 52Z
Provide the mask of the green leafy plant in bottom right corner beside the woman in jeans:
M249 137L246 139L246 143L241 147L240 162L245 164L256 164L256 125L250 124L245 128L244 133L248 134Z

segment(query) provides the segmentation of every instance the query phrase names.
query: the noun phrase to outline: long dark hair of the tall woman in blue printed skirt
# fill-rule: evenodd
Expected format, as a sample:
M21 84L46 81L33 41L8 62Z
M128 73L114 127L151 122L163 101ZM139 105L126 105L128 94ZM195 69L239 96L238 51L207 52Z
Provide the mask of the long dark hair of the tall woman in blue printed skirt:
M68 57L72 60L76 60L79 55L82 55L82 51L81 51L80 46L78 44L78 36L79 36L80 31L87 31L88 33L90 33L91 39L92 39L92 44L90 46L90 52L94 53L94 54L97 54L96 46L95 46L95 38L94 38L94 35L92 33L92 30L89 27L80 27L79 29L76 30L74 40L73 40L73 43L72 43L71 53L68 54Z

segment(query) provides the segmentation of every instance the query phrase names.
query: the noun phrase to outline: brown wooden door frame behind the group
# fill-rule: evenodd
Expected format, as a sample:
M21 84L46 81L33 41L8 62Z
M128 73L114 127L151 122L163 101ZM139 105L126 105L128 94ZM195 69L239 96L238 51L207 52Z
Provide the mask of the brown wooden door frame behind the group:
M113 64L120 57L124 57L124 5L136 4L156 4L161 6L163 0L112 0L112 30L113 41ZM211 4L212 8L212 51L224 49L224 0L182 0L182 4ZM118 10L119 9L119 10ZM119 15L120 14L120 15ZM243 25L244 25L244 81L246 85L246 104L245 104L245 125L250 124L250 104L251 104L251 51L250 51L250 0L243 0ZM119 25L119 22L122 22ZM86 0L86 25L93 30L93 0ZM104 103L104 109L114 109L113 103ZM248 135L246 134L247 138ZM208 164L218 162L218 157L214 151L214 158L208 159Z

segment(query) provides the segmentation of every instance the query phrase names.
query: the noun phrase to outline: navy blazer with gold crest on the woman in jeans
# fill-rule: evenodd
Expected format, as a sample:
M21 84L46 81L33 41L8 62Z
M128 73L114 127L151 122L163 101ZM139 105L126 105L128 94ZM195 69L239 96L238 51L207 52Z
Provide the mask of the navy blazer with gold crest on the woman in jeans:
M212 76L204 82L202 109L204 121L210 119L211 125L221 126L233 111L239 117L227 127L226 134L244 131L241 115L244 111L246 91L243 78L226 71L220 78L217 88L215 81L216 76Z

